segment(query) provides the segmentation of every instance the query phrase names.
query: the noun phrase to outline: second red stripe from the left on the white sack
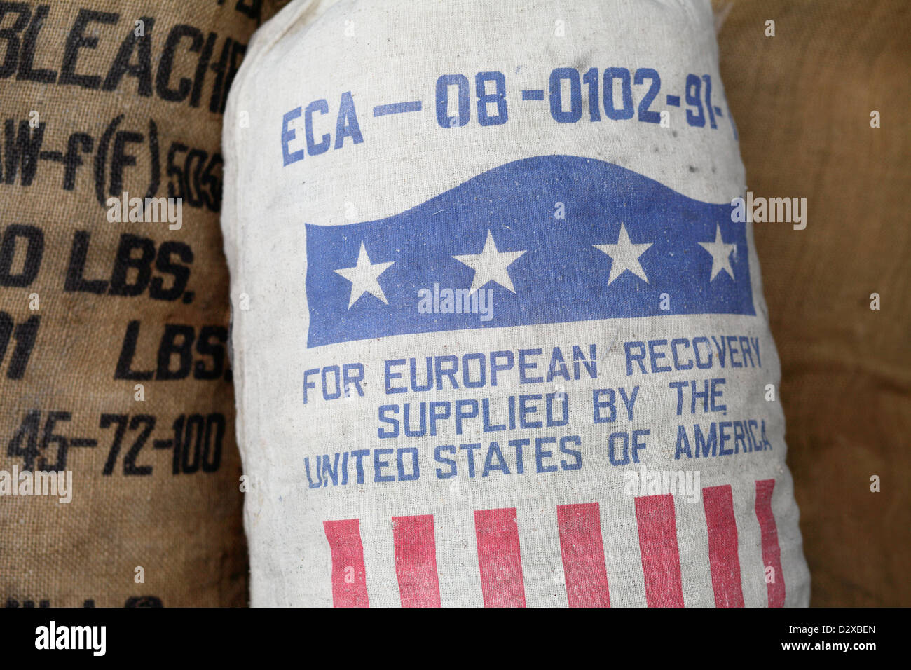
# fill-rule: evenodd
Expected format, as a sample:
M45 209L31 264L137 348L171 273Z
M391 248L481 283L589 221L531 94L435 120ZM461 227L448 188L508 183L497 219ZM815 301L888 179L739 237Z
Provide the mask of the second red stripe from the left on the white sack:
M395 576L403 607L439 607L434 515L393 517Z

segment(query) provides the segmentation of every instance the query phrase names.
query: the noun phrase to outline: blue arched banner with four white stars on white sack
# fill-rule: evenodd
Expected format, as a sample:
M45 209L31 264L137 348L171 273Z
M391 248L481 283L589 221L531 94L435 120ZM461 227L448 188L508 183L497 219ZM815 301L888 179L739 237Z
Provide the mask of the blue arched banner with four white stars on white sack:
M732 222L730 205L692 200L600 160L517 160L380 221L306 230L309 347L466 328L755 314L745 224ZM492 288L492 318L420 314L418 296L435 284L470 294Z

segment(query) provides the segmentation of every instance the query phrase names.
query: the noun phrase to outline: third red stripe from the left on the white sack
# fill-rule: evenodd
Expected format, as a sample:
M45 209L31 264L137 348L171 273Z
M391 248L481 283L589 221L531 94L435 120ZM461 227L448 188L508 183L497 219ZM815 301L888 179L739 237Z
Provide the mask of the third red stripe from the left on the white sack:
M477 562L485 607L525 607L516 508L476 510Z

